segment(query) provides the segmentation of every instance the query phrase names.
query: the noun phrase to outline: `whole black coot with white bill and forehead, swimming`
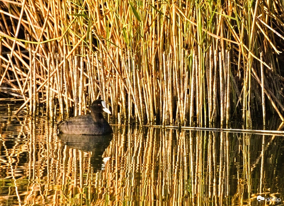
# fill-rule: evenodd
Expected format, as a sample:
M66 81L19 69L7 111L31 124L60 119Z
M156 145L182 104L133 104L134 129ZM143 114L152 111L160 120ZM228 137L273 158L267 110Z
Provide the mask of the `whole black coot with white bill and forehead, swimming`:
M103 100L95 100L90 107L91 115L80 115L61 121L57 125L57 133L77 135L107 135L112 128L103 117L102 112L111 114Z

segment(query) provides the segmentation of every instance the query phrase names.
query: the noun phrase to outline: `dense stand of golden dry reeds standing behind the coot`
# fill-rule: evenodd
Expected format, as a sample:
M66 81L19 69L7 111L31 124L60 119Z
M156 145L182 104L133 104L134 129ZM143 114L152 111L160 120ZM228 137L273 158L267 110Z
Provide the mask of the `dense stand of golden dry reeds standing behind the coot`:
M30 114L45 102L51 118L57 109L86 113L101 97L128 123L204 126L239 115L250 126L261 111L265 121L265 110L284 121L283 8L282 1L3 0L1 100L21 99L18 112L28 106Z

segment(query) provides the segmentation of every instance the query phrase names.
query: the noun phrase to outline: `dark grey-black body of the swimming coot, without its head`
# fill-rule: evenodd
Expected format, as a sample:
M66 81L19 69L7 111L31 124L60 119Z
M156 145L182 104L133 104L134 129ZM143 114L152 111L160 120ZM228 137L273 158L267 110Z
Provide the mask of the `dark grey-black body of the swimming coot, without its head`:
M66 134L105 135L112 133L112 128L105 118L94 121L91 115L80 115L62 121L57 129L58 132Z

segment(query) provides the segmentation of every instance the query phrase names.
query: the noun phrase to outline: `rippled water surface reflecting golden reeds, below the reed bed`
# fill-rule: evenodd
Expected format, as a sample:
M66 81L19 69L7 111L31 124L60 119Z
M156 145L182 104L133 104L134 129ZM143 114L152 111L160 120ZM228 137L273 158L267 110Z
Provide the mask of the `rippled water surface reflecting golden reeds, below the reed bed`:
M45 117L11 110L1 105L0 205L283 204L281 136L133 126L57 136Z

